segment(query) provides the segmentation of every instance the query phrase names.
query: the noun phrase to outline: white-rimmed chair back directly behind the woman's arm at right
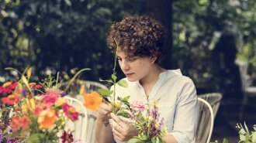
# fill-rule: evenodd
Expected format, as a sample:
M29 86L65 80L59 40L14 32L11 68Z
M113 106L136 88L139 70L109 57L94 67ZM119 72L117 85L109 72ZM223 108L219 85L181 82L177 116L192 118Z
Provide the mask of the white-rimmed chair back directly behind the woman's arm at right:
M209 143L213 133L213 108L204 99L199 99L199 127L195 134L195 143Z

